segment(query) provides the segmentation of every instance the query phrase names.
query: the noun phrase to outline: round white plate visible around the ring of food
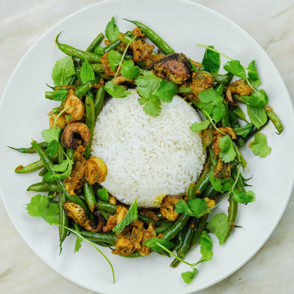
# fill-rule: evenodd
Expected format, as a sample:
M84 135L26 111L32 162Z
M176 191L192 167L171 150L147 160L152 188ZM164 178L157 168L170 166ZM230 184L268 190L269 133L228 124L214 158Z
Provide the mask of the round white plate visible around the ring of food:
M64 30L59 41L86 49L92 39L104 31L112 16L121 31L133 25L122 18L141 21L157 31L177 52L201 61L204 49L197 42L214 45L221 52L247 65L256 60L262 88L268 93L270 106L283 119L284 131L278 136L272 123L263 130L270 156L259 158L246 147L242 149L253 179L250 184L257 200L248 206L239 205L237 225L231 237L220 247L213 238L213 260L198 266L196 279L189 285L181 279L187 265L169 267L172 259L156 253L147 258L124 259L101 250L111 260L116 283L112 284L109 265L90 245L83 244L74 251L73 235L69 236L59 255L57 228L44 220L32 218L24 204L31 194L26 188L40 181L35 173L17 175L14 168L38 160L1 146L1 196L9 216L28 245L54 270L85 288L99 293L192 293L211 286L232 274L246 263L265 243L278 224L293 189L293 106L285 84L273 62L263 49L240 27L224 16L188 1L149 0L141 9L139 1L103 1L67 17L44 34L25 54L6 86L0 104L1 138L5 146L29 146L30 138L42 141L41 130L48 128L46 113L57 102L44 99L48 91L45 83L52 84L51 70L64 54L54 46L55 36ZM227 60L221 57L222 63ZM281 103L283 98L283 103ZM217 212L225 211L227 203ZM199 259L199 248L194 248L187 260ZM16 253L17 254L17 253Z

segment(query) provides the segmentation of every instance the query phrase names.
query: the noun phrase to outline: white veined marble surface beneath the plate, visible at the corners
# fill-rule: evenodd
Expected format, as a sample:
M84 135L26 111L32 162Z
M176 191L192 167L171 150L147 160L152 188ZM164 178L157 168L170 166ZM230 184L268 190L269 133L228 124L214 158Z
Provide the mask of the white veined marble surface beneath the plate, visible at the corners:
M0 95L25 52L51 26L95 0L2 0ZM294 99L294 1L196 0L241 26L265 49ZM282 99L282 97L280 97ZM3 142L3 141L2 141ZM291 163L289 163L291 164ZM293 193L277 228L237 272L197 294L294 293ZM0 292L92 294L49 268L24 242L0 199Z

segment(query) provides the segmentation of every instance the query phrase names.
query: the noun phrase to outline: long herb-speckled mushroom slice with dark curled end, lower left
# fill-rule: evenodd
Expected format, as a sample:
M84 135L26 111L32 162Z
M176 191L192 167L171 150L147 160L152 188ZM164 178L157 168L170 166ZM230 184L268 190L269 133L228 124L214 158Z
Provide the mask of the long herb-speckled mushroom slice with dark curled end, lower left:
M99 216L98 225L95 225L95 223L88 217L86 211L84 211L80 205L74 202L66 201L64 202L62 208L70 218L72 218L86 231L99 232L102 230L104 224L104 218L102 215L101 217Z

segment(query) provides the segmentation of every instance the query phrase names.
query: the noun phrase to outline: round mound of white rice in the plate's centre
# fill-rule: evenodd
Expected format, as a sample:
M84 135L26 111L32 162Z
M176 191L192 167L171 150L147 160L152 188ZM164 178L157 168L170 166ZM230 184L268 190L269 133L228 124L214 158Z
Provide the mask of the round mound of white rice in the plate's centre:
M99 114L92 156L101 157L108 174L101 183L118 200L154 207L166 194L183 195L202 170L206 151L189 126L201 118L179 96L161 104L157 117L146 115L136 91L111 98Z

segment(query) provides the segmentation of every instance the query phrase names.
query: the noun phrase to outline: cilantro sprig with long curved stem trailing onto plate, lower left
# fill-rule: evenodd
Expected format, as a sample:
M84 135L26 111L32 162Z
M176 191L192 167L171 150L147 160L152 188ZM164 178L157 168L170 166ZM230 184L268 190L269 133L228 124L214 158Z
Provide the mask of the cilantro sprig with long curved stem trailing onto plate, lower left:
M101 253L102 256L109 263L111 270L112 270L113 283L115 282L113 266L112 266L111 262L108 260L108 258L104 255L104 253L95 244L93 244L90 240L84 238L80 234L78 229L72 230L71 228L68 228L64 225L59 224L59 210L58 210L57 204L50 203L47 196L44 196L44 195L42 196L42 195L38 194L38 195L31 198L31 202L26 205L26 210L28 211L28 214L30 216L37 216L37 217L43 218L50 225L58 225L60 227L66 228L71 233L74 233L78 238L76 241L76 244L75 244L75 252L77 252L79 250L79 248L81 247L82 241L89 243L96 250L98 250L98 252Z

